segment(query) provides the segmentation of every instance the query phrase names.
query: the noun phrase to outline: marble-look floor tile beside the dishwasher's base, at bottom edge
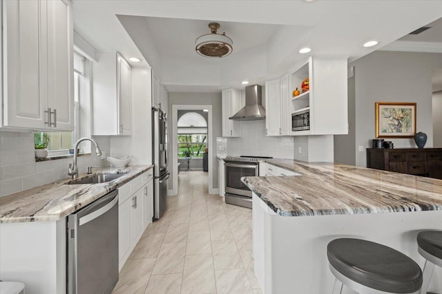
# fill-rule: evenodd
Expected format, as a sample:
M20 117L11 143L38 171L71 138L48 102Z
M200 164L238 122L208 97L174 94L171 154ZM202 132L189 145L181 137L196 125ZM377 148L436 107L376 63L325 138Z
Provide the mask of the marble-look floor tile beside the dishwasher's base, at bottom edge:
M155 258L128 260L119 273L113 294L143 294L155 264Z

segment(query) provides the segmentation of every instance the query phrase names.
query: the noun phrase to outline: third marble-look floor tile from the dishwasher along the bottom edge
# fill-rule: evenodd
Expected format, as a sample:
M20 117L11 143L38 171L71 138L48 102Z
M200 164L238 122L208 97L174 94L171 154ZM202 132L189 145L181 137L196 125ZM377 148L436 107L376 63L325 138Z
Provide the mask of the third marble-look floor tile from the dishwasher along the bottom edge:
M186 256L181 293L216 293L211 254Z

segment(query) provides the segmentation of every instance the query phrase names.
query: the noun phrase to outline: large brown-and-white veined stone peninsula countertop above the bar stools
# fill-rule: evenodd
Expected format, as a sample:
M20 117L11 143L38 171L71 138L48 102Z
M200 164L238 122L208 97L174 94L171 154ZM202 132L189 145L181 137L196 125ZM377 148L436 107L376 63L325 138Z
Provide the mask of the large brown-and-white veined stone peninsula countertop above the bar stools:
M442 210L442 180L338 163L265 161L301 175L242 178L280 216Z

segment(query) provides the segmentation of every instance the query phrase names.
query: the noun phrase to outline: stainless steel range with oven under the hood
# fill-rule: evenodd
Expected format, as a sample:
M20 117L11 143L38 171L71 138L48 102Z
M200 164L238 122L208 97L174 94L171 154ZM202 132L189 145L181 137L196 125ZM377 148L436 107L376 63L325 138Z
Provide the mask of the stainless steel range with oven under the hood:
M259 160L266 156L227 156L224 159L226 171L226 203L251 208L251 191L241 182L243 176L259 175Z

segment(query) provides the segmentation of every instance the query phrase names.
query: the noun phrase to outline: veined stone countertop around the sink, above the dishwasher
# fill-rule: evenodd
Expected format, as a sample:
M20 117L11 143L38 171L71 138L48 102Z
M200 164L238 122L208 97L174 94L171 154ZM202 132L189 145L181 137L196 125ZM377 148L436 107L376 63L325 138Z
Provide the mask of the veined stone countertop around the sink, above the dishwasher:
M140 176L153 165L131 165L122 168L97 169L97 172L124 174L100 184L65 185L70 178L28 189L0 198L0 223L41 222L60 220L70 213L106 195L110 191ZM127 173L127 174L126 174ZM87 176L79 175L78 178Z

